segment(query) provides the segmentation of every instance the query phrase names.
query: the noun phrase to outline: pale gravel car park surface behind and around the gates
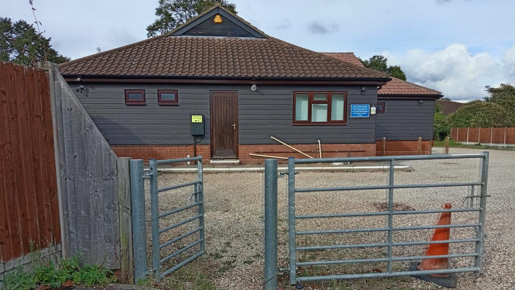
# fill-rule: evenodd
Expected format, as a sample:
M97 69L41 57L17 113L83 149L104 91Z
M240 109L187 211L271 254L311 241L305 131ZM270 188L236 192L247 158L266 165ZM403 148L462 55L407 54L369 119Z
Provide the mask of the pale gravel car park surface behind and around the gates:
M434 154L441 149L435 148ZM474 149L451 149L450 153L476 153ZM414 171L397 171L396 184L454 183L478 180L478 159L423 160L404 162L413 165ZM180 184L196 179L196 174L160 174L159 187ZM388 172L302 172L296 175L297 187L332 187L353 185L387 184ZM207 279L220 289L262 289L264 249L264 173L209 173L204 174L205 184L205 247L208 255L186 266L202 271ZM278 232L279 267L287 267L287 178L280 178L278 185ZM487 200L486 252L484 272L473 282L471 273L458 273L456 289L515 289L515 151L490 151L490 167ZM148 190L148 184L146 186ZM160 194L160 212L173 210L191 201L192 187L176 189ZM477 193L477 191L476 191ZM428 210L441 208L450 202L453 208L468 207L469 201L461 198L470 194L465 187L411 188L394 191L396 210ZM147 200L150 200L147 192ZM387 192L381 190L305 192L296 197L296 214L322 214L342 212L375 212L384 210ZM477 202L476 202L477 204ZM147 224L150 241L150 204L147 204ZM195 215L195 209L168 216L160 220L160 227ZM431 225L439 214L397 215L393 225ZM477 222L477 213L453 213L453 223ZM387 225L387 217L347 217L331 219L305 219L297 221L297 230L329 230L344 228L374 228ZM196 221L184 224L161 234L161 243L198 227ZM433 230L394 232L394 241L431 239ZM383 243L387 233L354 233L335 235L306 235L297 237L297 245L335 245ZM451 229L451 239L475 237L472 228ZM192 243L198 234L164 248L161 257ZM473 251L472 243L451 244L451 253ZM425 254L425 246L394 247L394 256ZM386 248L327 250L298 252L297 261L346 260L384 257ZM175 265L198 251L198 246L165 263L165 269ZM151 253L151 248L148 251ZM407 270L409 262L394 262L393 269ZM470 267L472 257L450 260L451 267ZM339 266L299 267L298 275L332 275L338 273L364 273L386 271L386 263L348 264ZM181 280L184 271L174 273L164 282ZM188 274L189 275L189 274ZM287 285L287 275L280 278L280 285ZM306 289L440 289L434 284L411 277L393 279L364 279L334 283L331 281L305 283ZM211 289L211 288L210 288Z

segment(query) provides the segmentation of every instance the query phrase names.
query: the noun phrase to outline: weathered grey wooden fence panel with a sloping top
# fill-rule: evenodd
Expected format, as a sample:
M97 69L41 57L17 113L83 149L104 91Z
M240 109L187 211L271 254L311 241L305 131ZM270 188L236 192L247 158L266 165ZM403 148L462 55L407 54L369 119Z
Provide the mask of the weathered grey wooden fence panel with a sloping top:
M63 252L82 263L120 264L117 159L66 84L57 65L42 65L50 84L55 120Z

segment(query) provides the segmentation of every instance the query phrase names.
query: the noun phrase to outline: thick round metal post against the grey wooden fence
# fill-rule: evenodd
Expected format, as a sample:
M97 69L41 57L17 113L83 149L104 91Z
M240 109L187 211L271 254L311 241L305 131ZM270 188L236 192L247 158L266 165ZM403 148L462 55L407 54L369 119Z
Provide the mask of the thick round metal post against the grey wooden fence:
M132 209L132 253L134 256L134 282L138 283L139 280L144 280L146 278L146 273L148 270L143 160L130 160L129 166Z

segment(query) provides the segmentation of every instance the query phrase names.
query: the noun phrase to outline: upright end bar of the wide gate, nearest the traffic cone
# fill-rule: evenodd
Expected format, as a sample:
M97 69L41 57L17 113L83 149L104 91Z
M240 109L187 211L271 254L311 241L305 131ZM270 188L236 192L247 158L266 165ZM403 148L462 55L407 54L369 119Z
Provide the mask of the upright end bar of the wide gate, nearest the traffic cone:
M485 211L486 211L486 196L487 196L487 185L488 185L488 152L483 152L485 157L483 157L483 162L481 165L481 194L479 198L479 227L477 227L477 235L476 238L479 241L476 241L476 253L479 255L474 259L474 267L479 268L479 272L483 271L483 245L485 241Z

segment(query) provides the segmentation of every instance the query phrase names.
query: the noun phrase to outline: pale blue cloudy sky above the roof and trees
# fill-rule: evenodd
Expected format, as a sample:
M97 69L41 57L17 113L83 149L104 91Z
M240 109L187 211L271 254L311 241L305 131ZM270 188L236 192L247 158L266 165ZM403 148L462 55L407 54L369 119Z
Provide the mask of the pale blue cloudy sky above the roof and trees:
M266 34L318 52L375 54L409 82L456 101L515 84L514 0L229 0ZM45 37L72 59L146 39L158 0L33 0ZM0 0L0 17L34 20L28 0Z

